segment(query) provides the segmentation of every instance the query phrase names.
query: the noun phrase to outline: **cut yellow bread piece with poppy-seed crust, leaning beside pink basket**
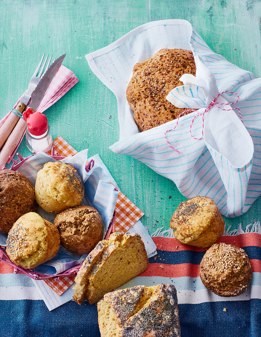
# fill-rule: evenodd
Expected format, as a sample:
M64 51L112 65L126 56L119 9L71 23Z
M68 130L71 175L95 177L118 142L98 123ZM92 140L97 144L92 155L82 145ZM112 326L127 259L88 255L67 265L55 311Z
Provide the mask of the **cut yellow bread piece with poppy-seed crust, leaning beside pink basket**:
M141 237L115 232L100 241L75 277L73 299L81 304L98 302L106 293L142 273L149 261Z

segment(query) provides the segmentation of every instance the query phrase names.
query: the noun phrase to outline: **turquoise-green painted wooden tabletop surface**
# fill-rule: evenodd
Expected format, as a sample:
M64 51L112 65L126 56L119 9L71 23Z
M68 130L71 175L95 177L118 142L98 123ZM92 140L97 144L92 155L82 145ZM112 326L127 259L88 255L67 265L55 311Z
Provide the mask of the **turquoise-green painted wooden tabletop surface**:
M79 83L46 111L53 138L61 135L78 151L89 146L90 156L98 153L122 192L145 212L143 224L150 233L160 226L168 228L172 213L185 198L170 180L108 150L119 139L117 102L91 72L85 54L143 23L186 19L211 49L261 76L261 2L0 0L0 12L0 117L26 90L43 51L55 56L66 53L63 64ZM24 141L19 152L29 155ZM227 224L235 228L242 223L245 228L259 220L260 205L259 198L247 214L226 219Z

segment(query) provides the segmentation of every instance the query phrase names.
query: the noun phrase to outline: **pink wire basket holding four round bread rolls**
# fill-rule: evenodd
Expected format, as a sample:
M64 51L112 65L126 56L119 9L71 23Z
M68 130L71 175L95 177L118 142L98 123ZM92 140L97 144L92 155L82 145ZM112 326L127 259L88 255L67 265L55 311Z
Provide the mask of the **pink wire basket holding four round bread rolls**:
M26 157L26 158L23 158L21 156L20 153L17 153L17 156L18 156L18 159L17 160L14 160L13 158L9 157L12 161L13 161L13 164L11 166L11 170L12 171L16 171L27 159L31 158L32 156L34 156L34 154L32 154L31 156L29 157ZM64 159L66 157L63 157L59 154L55 154L55 146L53 146L52 148L52 153L50 155L51 158L54 158L56 160L59 160L59 159ZM94 166L94 160L90 160L88 162L88 164L85 166L85 170L86 172L90 172L90 170L93 168ZM4 170L6 167L2 167L2 170ZM118 189L115 187L115 190L118 191ZM113 213L113 217L111 219L111 222L109 224L109 227L108 227L108 230L107 230L107 233L105 235L105 239L107 239L110 235L111 232L114 232L115 229L114 229L114 222L115 222L115 217L116 217L116 214L115 214L115 211ZM41 274L41 273L38 273L36 271L34 271L33 269L25 269L23 268L22 266L17 266L15 265L11 260L10 258L8 257L8 255L6 254L6 249L4 246L0 246L0 261L3 261L5 262L6 264L8 264L9 266L12 266L14 267L14 274L25 274L31 278L33 278L34 280L45 280L45 279L48 279L48 278L54 278L55 280L59 280L59 278L61 276L71 276L71 275L74 275L76 274L80 267L83 265L84 261L70 269L67 269L59 274L55 274L55 275L45 275L45 274Z

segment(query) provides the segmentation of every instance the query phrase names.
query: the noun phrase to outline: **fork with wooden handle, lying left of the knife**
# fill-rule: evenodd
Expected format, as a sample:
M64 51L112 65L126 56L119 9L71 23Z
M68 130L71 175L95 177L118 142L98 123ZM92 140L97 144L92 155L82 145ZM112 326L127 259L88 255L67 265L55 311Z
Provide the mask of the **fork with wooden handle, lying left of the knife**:
M20 117L22 118L22 116L23 116L22 113L25 110L25 108L26 108L26 106L27 106L27 104L28 104L28 102L31 98L32 92L34 91L37 84L40 82L42 76L45 74L46 70L50 66L52 56L50 57L47 65L46 65L47 58L48 58L49 54L46 56L45 61L43 62L44 55L45 55L45 53L43 53L41 61L39 62L32 78L31 78L31 80L28 84L28 89L27 89L26 93L24 94L22 99L19 101L19 103L17 103L15 108L12 109L13 113L9 114L7 119L4 121L4 123L0 127L0 148L3 146L3 144L5 143L7 138L9 137L10 133L12 132L13 128L17 124ZM54 59L54 61L55 61L55 59ZM43 64L42 64L42 62L43 62ZM42 65L42 67L41 67L41 65ZM45 68L45 65L46 65L46 68ZM39 71L40 67L41 67L41 70ZM44 70L44 68L45 68L45 70Z

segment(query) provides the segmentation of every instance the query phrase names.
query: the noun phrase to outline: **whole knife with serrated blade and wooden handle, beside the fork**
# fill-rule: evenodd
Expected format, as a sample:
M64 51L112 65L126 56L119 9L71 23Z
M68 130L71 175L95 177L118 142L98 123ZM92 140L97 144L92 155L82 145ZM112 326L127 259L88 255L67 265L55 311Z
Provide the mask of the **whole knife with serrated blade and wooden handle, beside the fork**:
M41 100L45 92L47 91L48 87L50 86L55 74L57 73L60 65L63 62L66 54L60 56L45 72L42 76L40 82L37 84L36 88L32 92L32 101L30 103L30 109L35 112L38 108ZM28 108L27 108L28 109ZM24 112L26 113L26 112ZM9 156L13 153L17 144L19 143L20 139L22 138L26 129L26 122L20 118L17 125L14 127L13 131L9 135L7 141L5 142L1 152L0 152L0 170L2 166L4 166L9 159Z

